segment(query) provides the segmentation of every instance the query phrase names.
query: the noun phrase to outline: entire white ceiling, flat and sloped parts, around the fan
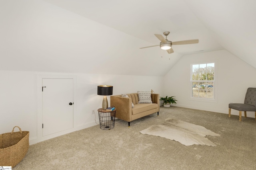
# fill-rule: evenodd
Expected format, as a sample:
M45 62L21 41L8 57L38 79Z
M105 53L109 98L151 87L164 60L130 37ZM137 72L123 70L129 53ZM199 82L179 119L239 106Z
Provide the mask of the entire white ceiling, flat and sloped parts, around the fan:
M253 0L2 0L0 69L164 76L183 55L226 49L256 68ZM168 54L154 34L199 39Z

